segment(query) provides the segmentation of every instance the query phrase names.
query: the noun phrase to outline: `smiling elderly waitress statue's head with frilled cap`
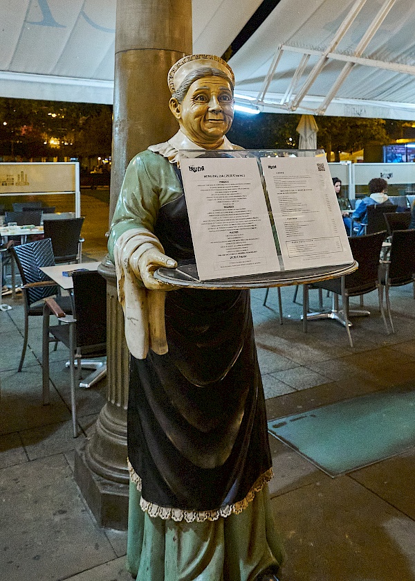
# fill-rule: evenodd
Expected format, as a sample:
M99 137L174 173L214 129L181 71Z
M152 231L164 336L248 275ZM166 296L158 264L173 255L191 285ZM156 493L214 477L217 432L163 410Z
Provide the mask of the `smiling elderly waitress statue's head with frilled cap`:
M190 55L169 70L170 110L183 133L206 149L218 147L234 115L234 75L215 55Z

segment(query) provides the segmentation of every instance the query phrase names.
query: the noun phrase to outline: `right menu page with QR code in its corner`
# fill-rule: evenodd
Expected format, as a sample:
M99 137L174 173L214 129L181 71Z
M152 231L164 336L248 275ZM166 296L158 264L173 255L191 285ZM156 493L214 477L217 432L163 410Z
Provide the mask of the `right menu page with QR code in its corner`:
M261 157L284 269L353 262L325 157Z

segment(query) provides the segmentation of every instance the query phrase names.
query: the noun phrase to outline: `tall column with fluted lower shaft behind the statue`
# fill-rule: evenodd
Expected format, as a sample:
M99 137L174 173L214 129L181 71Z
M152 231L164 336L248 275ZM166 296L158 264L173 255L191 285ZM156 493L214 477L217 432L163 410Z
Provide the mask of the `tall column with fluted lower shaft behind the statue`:
M110 222L131 158L178 129L168 107L167 72L190 53L192 0L117 0ZM129 353L108 258L99 271L107 280L107 403L88 442L76 451L75 481L100 526L124 529Z

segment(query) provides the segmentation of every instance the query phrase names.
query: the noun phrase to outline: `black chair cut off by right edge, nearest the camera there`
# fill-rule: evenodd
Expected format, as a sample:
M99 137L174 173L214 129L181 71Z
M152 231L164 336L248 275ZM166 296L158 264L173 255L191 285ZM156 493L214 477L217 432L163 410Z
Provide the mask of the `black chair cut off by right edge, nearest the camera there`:
M389 288L413 284L415 298L415 230L395 230L391 236L389 260L382 260L379 267L380 300L383 301L385 288L386 308L391 330L394 323L391 316Z

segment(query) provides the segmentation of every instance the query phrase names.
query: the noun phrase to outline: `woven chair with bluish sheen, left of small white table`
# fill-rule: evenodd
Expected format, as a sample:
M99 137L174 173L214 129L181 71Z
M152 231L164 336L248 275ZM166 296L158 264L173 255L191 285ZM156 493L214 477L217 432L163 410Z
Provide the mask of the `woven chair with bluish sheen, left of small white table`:
M57 303L66 312L72 312L72 303L70 296L59 296L59 286L40 270L40 267L55 265L52 243L49 238L11 247L10 252L17 264L23 283L21 289L24 298L24 339L18 368L18 371L21 371L28 344L29 317L42 316L44 308L42 299L48 296L57 296ZM48 401L44 400L44 403L48 403Z

